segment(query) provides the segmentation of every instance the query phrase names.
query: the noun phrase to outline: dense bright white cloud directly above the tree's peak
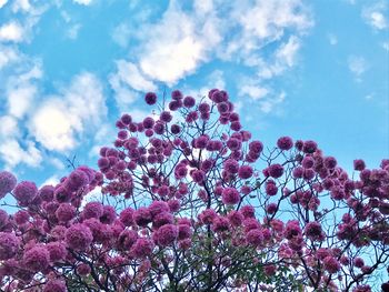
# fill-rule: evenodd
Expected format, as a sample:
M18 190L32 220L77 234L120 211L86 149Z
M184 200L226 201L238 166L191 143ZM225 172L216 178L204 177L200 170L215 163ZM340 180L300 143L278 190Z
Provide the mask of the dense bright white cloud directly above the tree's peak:
M221 41L215 17L186 13L176 1L144 31L139 66L147 75L169 85L194 72Z

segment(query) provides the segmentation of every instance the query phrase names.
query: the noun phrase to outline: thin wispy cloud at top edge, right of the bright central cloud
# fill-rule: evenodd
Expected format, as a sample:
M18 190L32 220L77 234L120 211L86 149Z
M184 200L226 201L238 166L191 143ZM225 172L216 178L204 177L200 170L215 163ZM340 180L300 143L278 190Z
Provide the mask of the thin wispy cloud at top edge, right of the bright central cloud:
M225 26L237 32L219 50L225 60L246 60L269 43L277 46L286 31L305 34L313 24L309 11L299 0L258 0L255 4L237 1L232 11Z

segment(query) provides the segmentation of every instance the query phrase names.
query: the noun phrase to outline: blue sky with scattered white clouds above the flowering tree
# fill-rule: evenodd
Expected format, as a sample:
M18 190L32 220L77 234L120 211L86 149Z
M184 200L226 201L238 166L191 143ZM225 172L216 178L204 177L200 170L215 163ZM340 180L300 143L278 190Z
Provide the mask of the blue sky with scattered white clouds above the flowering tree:
M0 170L96 167L148 91L226 89L272 148L315 140L346 170L389 158L386 0L0 0Z

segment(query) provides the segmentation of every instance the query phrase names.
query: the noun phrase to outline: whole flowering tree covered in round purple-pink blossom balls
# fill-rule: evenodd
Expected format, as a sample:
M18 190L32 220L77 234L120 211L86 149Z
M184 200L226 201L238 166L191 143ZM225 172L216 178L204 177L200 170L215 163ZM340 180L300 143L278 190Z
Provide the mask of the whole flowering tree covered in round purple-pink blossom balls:
M144 99L153 114L121 117L98 171L40 189L0 172L18 208L0 210L1 291L371 291L389 160L352 179L313 141L265 150L222 90Z

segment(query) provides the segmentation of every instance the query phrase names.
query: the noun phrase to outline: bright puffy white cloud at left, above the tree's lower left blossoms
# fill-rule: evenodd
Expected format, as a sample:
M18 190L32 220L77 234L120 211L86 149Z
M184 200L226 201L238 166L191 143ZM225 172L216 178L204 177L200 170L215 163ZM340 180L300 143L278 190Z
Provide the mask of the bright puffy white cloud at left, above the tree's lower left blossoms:
M77 144L77 135L86 125L91 131L107 114L100 81L91 73L72 80L61 97L47 99L34 112L30 132L49 150L67 151Z

